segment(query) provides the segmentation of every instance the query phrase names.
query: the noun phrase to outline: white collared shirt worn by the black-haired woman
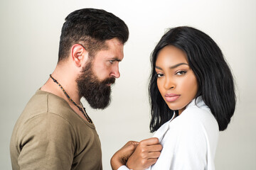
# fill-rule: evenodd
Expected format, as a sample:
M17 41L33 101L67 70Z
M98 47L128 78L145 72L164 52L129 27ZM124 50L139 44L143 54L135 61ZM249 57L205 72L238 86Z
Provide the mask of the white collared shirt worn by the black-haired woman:
M154 137L163 146L156 164L147 170L214 170L218 123L201 97L176 118L161 125ZM118 170L127 170L121 166Z

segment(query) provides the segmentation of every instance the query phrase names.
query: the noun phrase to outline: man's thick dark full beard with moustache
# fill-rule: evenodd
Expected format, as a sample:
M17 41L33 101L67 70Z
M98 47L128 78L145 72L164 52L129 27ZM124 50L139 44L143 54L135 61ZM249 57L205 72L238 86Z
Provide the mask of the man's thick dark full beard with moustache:
M80 97L85 97L92 108L104 109L110 105L111 87L115 78L110 77L100 81L92 71L92 61L88 62L82 69L82 73L76 79Z

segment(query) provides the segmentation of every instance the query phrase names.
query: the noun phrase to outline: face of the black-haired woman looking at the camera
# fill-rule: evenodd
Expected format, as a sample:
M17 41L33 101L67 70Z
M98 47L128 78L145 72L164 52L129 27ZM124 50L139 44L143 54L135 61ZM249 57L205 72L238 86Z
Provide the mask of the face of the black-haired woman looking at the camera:
M155 69L161 96L169 108L180 115L198 91L196 76L188 66L186 53L172 45L164 47L157 56Z

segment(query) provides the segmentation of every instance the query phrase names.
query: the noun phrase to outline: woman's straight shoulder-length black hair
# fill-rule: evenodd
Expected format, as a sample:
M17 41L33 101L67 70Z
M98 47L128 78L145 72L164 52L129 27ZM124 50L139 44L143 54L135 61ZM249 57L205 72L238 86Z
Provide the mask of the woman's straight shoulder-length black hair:
M225 130L235 111L233 75L220 48L212 38L201 30L183 26L172 28L165 33L151 54L151 132L158 130L174 114L162 98L156 84L156 58L166 45L173 45L186 53L189 67L198 81L196 98L202 96L217 120L219 130Z

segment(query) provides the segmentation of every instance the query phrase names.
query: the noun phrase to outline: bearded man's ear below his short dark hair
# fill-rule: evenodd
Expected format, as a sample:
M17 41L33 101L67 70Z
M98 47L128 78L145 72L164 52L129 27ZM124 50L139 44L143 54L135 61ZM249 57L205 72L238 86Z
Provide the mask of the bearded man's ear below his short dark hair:
M75 44L71 47L71 55L72 60L77 67L81 67L88 58L87 50L80 44Z

